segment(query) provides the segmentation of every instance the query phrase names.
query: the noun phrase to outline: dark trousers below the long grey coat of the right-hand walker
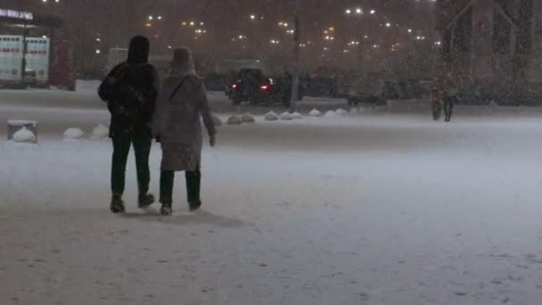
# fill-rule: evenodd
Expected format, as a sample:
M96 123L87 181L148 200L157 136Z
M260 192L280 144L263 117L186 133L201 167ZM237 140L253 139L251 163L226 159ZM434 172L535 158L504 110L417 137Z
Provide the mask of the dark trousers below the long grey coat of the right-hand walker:
M200 202L201 189L201 170L198 168L194 171L185 172L186 179L186 194L188 202ZM173 202L173 185L175 180L175 172L162 170L160 173L160 202L163 204L171 204Z

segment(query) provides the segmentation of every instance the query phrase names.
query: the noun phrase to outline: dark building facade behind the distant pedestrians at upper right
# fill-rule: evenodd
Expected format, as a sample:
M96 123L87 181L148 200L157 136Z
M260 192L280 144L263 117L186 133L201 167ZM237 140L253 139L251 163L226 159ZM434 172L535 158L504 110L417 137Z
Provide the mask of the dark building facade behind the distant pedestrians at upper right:
M462 90L499 103L542 96L542 1L439 0L437 16L443 69Z

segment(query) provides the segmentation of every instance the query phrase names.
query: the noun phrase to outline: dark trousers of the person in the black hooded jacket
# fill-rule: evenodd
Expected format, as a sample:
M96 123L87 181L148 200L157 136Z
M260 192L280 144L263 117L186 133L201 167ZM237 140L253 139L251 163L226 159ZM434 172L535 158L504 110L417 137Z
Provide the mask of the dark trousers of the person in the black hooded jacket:
M149 155L151 154L152 138L144 133L116 132L112 137L113 161L111 166L111 191L114 196L122 196L126 184L126 163L130 146L134 145L136 154L137 185L139 195L149 192L151 171Z

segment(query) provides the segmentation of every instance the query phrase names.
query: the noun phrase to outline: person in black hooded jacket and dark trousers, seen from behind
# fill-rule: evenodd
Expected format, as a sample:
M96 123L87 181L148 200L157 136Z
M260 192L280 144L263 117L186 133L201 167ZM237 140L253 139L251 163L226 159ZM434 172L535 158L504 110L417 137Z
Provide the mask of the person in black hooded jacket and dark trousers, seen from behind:
M126 210L122 195L130 146L136 154L138 206L154 202L148 194L151 173L149 154L152 144L152 116L156 110L159 76L149 60L150 44L146 37L130 41L126 62L113 68L98 90L111 112L110 137L113 142L111 165L111 212Z

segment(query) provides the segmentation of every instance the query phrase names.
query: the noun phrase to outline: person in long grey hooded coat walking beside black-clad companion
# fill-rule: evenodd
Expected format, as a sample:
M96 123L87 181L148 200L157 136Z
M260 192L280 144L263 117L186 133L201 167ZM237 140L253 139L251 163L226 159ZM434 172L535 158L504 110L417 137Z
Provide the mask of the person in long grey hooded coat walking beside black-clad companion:
M190 210L201 207L201 118L216 143L214 121L201 78L196 76L192 52L175 50L169 76L164 80L154 119L154 136L162 148L160 174L160 213L171 215L176 171L185 171Z

